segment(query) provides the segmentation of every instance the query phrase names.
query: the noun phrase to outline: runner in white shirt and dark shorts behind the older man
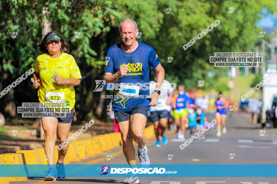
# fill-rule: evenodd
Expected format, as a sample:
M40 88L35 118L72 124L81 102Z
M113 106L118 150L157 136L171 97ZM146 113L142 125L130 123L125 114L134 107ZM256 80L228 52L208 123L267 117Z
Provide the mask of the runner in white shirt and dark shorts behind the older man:
M151 93L154 92L154 89L156 88L157 85L157 74L155 73L154 76L155 81L150 81L150 87L151 87ZM157 142L155 144L156 147L161 147L161 141L162 139L162 144L166 145L168 140L167 137L164 135L165 130L167 128L167 121L168 121L168 115L171 110L170 106L168 105L169 102L168 100L168 93L173 92L173 90L169 90L169 85L170 83L167 80L164 80L163 86L167 87L162 87L161 88L161 95L159 97L159 103L157 106L152 106L150 107L150 118L152 122L154 123L154 132L156 135ZM161 126L161 133L159 132L159 125Z

